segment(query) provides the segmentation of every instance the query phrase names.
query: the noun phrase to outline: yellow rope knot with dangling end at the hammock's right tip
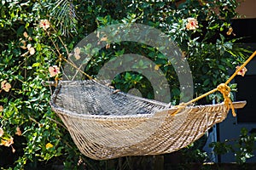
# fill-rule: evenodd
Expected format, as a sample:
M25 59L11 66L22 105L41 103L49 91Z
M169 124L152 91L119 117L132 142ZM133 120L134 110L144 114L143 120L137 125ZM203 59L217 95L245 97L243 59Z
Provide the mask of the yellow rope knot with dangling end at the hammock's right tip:
M232 101L230 99L230 87L225 83L221 83L218 85L217 89L224 97L224 105L227 107L228 110L230 110L231 108L232 115L236 116L234 105L232 104Z

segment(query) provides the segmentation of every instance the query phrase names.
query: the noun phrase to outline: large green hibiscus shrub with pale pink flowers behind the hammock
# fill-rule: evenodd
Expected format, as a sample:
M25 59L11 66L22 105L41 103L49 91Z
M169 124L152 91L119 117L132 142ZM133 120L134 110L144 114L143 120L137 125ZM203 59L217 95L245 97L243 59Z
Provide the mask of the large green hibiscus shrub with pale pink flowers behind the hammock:
M42 82L61 78L76 43L96 28L115 23L142 23L165 32L183 50L193 74L195 95L224 82L229 69L244 59L236 48L230 20L236 16L234 0L181 1L5 1L0 3L0 166L37 168L64 165L69 168L102 168L82 156L61 120L50 110L54 90ZM218 10L217 10L218 9ZM64 20L64 21L63 21ZM78 21L79 20L79 21ZM132 42L108 43L94 54L85 71L92 77L109 59L121 54L141 54L153 60L172 87L172 104L179 101L179 84L172 64L155 48ZM83 48L93 54L90 44ZM74 49L80 59L82 49ZM140 65L143 63L139 62ZM143 91L153 98L143 75L125 72L113 80L115 88ZM149 87L149 88L148 88ZM218 96L213 95L212 98ZM96 163L95 163L96 162ZM91 167L90 167L91 166ZM50 168L50 167L49 167Z

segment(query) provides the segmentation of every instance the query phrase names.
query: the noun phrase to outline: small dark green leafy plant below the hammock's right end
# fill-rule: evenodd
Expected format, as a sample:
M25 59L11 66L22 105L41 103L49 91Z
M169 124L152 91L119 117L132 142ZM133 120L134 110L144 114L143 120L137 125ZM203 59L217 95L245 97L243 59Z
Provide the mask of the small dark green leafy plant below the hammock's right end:
M229 152L234 153L236 162L243 164L247 159L254 156L253 152L256 150L255 142L255 133L249 134L247 128L242 127L239 139L226 139L224 142L213 142L210 144L210 147L218 155L224 155Z

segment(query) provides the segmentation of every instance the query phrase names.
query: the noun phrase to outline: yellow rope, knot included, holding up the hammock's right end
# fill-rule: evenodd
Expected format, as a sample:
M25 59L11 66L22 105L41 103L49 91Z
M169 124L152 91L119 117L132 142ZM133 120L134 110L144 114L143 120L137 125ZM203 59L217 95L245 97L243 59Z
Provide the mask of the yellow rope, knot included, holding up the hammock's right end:
M187 105L195 103L195 101L199 99L207 97L207 95L209 94L213 94L219 91L224 96L224 105L227 107L228 111L231 109L232 115L236 116L234 105L232 104L232 101L230 99L230 87L228 86L228 83L230 83L236 77L237 73L241 71L241 69L243 69L253 59L255 55L256 55L256 51L254 51L254 53L233 73L233 75L226 82L219 84L217 88L214 88L211 91L207 92L206 94L202 94L201 96L195 99L192 99L187 103L182 103L180 105L177 105L178 111L182 110ZM172 113L172 116L175 116L175 114L178 111L175 111L174 113Z

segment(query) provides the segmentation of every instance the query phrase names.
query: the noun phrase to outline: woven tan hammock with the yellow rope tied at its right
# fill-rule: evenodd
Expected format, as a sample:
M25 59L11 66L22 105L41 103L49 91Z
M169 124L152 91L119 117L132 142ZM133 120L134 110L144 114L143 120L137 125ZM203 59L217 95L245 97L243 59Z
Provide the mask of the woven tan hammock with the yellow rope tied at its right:
M231 102L228 83L255 54L227 82L180 105L116 92L103 85L107 82L96 80L59 82L50 105L79 150L92 159L170 153L200 139L215 123L224 121L230 109L236 116L235 109L246 105ZM217 91L223 94L223 103L192 105Z

